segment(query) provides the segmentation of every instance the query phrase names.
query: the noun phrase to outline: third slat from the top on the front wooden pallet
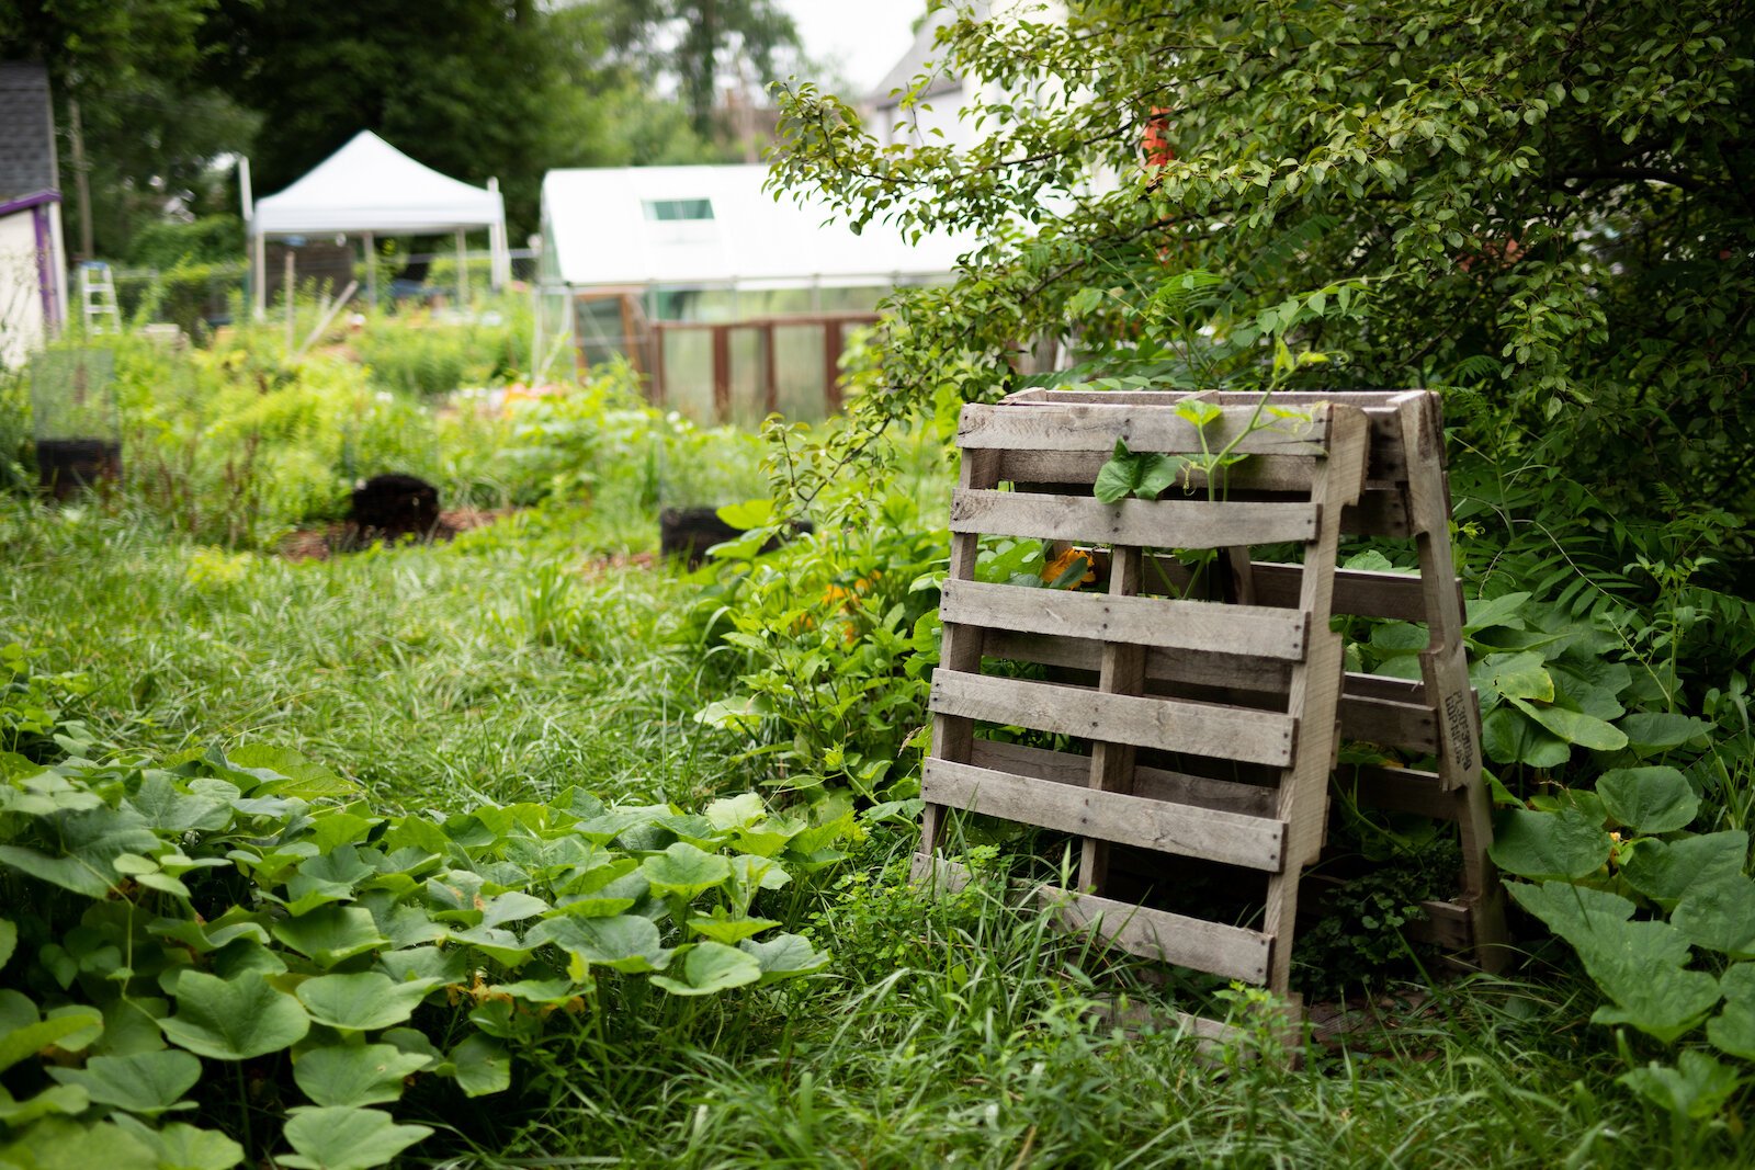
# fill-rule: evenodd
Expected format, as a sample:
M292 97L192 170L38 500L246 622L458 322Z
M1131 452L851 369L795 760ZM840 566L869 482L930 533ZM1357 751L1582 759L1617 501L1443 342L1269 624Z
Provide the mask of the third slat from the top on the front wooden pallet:
M969 626L1297 661L1309 617L1297 610L946 581L939 616Z

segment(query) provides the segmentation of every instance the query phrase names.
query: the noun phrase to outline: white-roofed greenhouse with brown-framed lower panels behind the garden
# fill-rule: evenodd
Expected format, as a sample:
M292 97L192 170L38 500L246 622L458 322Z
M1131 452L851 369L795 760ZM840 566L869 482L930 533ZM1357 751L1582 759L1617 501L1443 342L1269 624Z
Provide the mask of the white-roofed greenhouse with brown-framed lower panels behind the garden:
M548 172L537 351L572 339L579 365L623 356L655 402L697 417L835 409L848 332L874 323L890 289L946 279L971 242L878 221L855 235L825 203L765 191L767 175Z

